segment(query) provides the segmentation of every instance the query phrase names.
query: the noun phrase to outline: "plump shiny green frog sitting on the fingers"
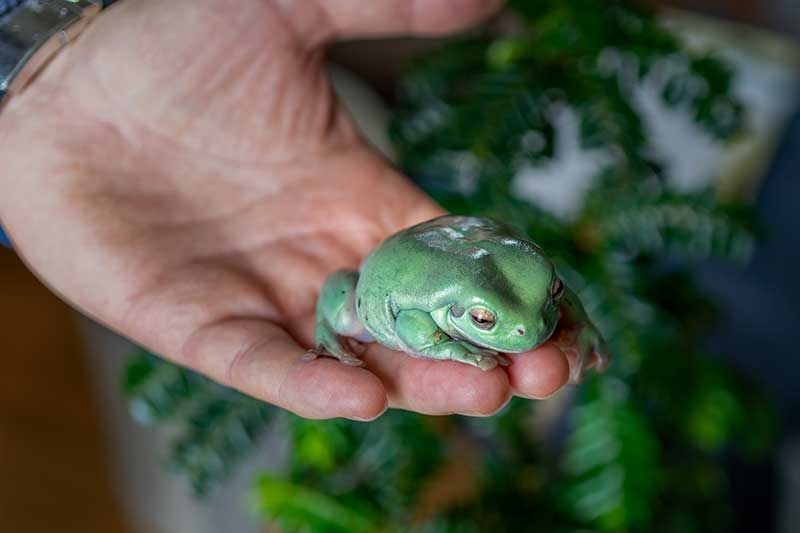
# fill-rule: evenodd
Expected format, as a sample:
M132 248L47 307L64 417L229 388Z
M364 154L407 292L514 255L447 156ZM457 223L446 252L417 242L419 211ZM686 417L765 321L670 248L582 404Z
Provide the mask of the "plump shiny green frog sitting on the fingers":
M364 365L364 344L491 370L556 336L573 382L610 356L581 301L525 234L494 218L443 215L381 242L325 280L311 358Z

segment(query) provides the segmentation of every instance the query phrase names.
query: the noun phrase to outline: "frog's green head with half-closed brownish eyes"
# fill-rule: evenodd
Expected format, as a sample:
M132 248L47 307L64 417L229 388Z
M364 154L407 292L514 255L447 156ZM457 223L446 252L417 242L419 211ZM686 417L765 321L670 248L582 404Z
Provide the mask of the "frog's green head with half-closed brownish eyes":
M542 344L556 328L565 287L549 261L534 266L503 276L501 284L465 291L450 306L448 322L468 342L498 352L519 353Z

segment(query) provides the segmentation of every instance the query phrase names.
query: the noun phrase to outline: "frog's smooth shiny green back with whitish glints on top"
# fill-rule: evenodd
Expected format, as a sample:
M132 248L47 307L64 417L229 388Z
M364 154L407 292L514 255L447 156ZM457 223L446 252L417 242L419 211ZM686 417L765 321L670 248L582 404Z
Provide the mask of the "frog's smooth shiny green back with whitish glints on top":
M361 265L359 318L373 336L400 348L394 338L398 310L430 312L445 305L452 292L472 282L477 268L493 267L488 256L508 246L541 254L535 244L488 218L447 215L400 231Z

